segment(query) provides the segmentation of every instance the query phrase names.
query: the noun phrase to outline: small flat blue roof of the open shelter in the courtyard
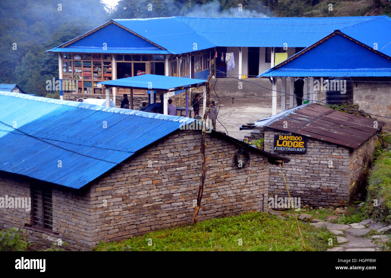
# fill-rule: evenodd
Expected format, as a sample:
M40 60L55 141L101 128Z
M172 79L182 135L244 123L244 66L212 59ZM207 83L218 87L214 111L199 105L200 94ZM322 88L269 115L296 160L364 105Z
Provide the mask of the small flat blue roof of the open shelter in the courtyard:
M98 84L110 86L126 86L145 88L147 90L170 90L178 87L188 87L194 84L203 84L206 80L190 79L185 77L174 77L155 74L143 74L133 77L126 77L116 80L99 82Z

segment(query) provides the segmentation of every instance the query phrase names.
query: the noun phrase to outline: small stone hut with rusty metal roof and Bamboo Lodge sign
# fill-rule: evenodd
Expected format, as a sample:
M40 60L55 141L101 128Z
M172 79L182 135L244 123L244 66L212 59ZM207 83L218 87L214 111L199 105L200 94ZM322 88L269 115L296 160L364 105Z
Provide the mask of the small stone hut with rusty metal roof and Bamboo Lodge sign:
M315 207L341 206L355 194L383 126L310 103L255 122L250 138L264 138L265 151L290 160L283 171L292 197ZM269 169L269 196L287 197L280 167Z

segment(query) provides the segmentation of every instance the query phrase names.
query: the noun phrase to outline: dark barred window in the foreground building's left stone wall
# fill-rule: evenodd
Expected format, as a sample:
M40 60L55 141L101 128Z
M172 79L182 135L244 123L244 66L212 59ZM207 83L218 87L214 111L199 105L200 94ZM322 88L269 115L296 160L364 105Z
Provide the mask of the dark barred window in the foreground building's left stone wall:
M52 188L32 187L33 215L32 224L34 228L53 229L53 202Z

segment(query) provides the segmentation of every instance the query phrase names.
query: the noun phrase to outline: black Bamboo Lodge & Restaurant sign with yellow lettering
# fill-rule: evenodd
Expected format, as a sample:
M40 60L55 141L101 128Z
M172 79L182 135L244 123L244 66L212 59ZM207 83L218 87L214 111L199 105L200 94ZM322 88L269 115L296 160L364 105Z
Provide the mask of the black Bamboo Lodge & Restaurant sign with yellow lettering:
M274 135L274 151L307 153L307 137L301 135Z

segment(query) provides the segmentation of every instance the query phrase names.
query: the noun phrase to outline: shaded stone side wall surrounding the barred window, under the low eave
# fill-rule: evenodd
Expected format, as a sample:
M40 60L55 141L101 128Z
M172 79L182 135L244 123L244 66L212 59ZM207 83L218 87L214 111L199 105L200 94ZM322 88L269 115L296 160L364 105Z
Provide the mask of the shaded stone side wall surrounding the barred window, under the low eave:
M32 197L30 181L16 175L2 173L0 176L0 197ZM61 239L68 243L69 250L89 249L89 204L85 190L70 190L53 187L53 230L43 231L32 226L32 207L0 208L0 230L17 227L26 231L27 240L34 242L33 250L42 250ZM77 232L76 232L77 231Z

